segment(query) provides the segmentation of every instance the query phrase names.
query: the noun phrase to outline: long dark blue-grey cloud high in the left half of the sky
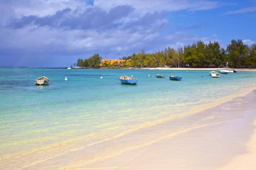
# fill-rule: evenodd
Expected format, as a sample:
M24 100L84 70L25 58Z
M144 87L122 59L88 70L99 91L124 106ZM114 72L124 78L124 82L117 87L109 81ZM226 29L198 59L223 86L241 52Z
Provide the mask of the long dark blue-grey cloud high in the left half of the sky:
M38 27L64 28L64 29L91 29L111 28L118 26L116 21L127 17L134 8L132 6L116 6L109 12L99 8L90 7L79 13L70 8L57 11L54 15L38 17L36 15L24 16L13 19L8 26L20 29L27 25L34 24Z

